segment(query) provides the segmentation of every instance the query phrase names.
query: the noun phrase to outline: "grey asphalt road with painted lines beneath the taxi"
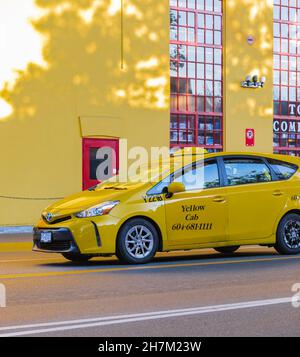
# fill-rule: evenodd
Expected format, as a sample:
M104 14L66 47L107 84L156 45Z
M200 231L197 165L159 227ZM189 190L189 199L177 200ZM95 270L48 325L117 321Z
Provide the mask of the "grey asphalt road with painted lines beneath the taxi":
M262 247L160 254L144 266L0 253L0 337L300 336L297 283L300 256Z

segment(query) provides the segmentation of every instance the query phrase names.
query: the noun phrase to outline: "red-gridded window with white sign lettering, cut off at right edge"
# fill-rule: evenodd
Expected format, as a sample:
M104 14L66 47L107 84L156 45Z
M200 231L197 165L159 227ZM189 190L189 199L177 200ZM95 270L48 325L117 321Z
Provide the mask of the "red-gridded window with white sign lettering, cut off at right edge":
M274 0L274 152L300 156L299 0Z

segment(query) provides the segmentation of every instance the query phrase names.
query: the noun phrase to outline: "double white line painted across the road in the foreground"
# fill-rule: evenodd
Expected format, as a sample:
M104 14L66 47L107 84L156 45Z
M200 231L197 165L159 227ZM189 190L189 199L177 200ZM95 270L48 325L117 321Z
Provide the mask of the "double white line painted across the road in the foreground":
M98 317L98 318L81 319L81 320L66 320L66 321L20 325L20 326L7 326L7 327L1 327L0 331L14 331L14 332L0 333L0 337L36 335L36 334L43 334L49 332L70 331L70 330L77 330L77 329L86 329L91 327L119 325L119 324L126 324L132 322L166 319L166 318L179 317L179 316L193 316L193 315L208 314L213 312L250 309L250 308L263 307L263 306L274 306L280 304L288 304L291 303L292 300L293 300L292 297L287 297L287 298L256 300L256 301L248 301L248 302L240 302L240 303L224 304L224 305L212 305L212 306L204 306L204 307L196 307L196 308L188 308L188 309L155 311L155 312L147 312L147 313L140 313L140 314L107 316L107 317Z

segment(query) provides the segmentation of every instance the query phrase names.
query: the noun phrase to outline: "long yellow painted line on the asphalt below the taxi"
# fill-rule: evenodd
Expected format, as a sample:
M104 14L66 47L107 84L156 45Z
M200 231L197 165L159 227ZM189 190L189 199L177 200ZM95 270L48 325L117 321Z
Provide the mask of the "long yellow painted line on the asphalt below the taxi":
M125 271L140 271L140 270L159 270L170 268L186 268L186 267L201 267L225 264L245 264L245 263L258 263L258 262L271 262L271 261L287 261L287 260L300 260L300 256L293 257L278 257L278 258L258 258L258 259L236 259L236 260L221 260L211 262L197 262L197 263L174 263L165 264L158 263L157 265L140 265L135 267L117 267L117 268L101 268L101 269L82 269L82 270L68 270L68 271L51 271L41 273L16 273L16 274L1 274L0 279L21 279L21 278L42 278L42 277L56 277L67 275L82 275L82 274L95 274L95 273L113 273Z

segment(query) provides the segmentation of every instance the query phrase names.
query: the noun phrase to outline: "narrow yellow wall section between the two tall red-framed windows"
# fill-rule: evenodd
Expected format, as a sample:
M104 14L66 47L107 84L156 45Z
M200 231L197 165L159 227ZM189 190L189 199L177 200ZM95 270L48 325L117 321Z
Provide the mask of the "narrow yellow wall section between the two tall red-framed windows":
M272 152L273 0L226 0L224 6L224 149ZM255 74L267 78L264 88L241 88ZM254 147L246 147L246 129L255 129Z

